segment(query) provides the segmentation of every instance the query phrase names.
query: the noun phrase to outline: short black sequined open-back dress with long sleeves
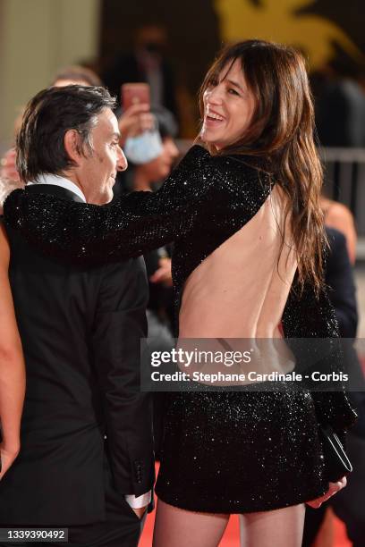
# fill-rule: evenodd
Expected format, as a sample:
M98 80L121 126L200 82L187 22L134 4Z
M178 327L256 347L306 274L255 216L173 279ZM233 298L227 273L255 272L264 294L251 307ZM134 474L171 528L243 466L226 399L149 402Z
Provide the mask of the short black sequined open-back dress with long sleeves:
M132 192L100 207L15 190L4 217L40 251L88 265L174 241L178 310L191 272L250 221L272 185L250 158L212 157L195 146L156 193ZM298 294L292 288L287 299L284 336L337 336L326 294L316 298L310 286ZM213 513L309 501L328 484L318 422L342 433L354 416L343 392L170 393L157 494L174 506Z

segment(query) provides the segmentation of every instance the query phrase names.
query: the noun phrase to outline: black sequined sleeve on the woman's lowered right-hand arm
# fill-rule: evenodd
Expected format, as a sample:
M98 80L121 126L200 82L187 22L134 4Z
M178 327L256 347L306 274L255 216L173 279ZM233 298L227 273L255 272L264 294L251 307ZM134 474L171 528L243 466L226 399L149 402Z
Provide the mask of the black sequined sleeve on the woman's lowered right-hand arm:
M324 374L344 372L344 353L341 339L338 338L335 309L325 289L316 295L313 287L307 283L300 292L294 282L284 308L283 327L285 337L296 341L301 339L299 359L307 374L310 375L314 370ZM316 358L316 353L320 357ZM337 384L332 388L336 391L329 391L329 385L325 383L317 387L315 383L309 383L318 423L332 425L337 433L343 435L352 427L357 415L344 391L344 385ZM321 386L323 391L320 391Z

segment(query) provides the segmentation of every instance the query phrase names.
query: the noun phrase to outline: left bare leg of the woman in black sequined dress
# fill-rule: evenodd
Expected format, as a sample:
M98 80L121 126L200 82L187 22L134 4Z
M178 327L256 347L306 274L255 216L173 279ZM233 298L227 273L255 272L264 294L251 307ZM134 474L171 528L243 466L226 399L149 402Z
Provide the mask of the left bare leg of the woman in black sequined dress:
M217 547L229 515L195 513L157 501L154 547Z

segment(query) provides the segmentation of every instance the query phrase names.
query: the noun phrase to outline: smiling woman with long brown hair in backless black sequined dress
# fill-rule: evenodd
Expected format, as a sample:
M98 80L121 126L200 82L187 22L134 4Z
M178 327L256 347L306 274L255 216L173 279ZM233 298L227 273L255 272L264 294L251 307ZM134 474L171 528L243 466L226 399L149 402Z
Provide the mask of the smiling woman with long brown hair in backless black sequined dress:
M174 241L181 338L337 336L320 278L322 173L301 55L258 40L228 47L200 111L206 148L192 147L156 193L97 207L16 190L7 222L81 263ZM344 393L171 393L167 406L156 545L216 545L239 513L242 544L299 547L303 502L342 485L328 490L318 422L352 425Z

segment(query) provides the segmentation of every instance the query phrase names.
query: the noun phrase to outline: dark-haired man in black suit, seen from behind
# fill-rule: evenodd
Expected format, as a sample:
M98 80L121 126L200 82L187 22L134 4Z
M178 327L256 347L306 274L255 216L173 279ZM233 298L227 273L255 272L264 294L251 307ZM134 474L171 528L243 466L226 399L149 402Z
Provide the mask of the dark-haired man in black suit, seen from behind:
M17 140L25 191L65 207L110 201L126 168L114 105L105 88L38 93ZM68 527L70 546L137 545L154 479L150 400L139 391L144 265L62 265L7 231L27 391L21 451L0 483L0 527Z

